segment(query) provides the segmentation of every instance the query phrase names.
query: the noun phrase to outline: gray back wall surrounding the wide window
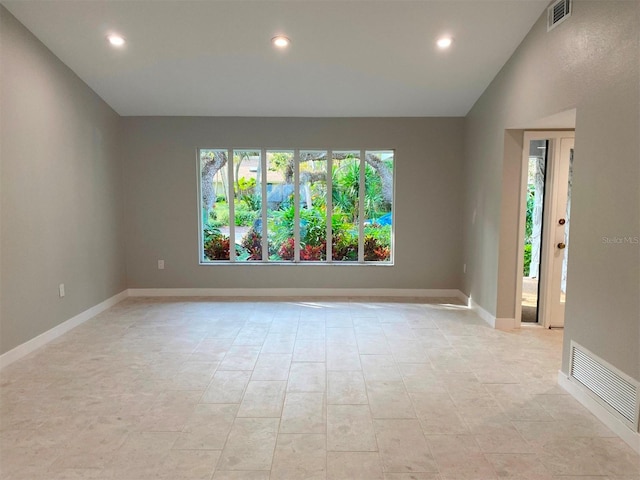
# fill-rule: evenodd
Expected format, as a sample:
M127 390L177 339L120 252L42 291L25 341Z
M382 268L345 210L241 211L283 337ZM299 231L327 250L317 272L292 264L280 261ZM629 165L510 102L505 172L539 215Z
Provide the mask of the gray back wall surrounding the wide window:
M454 288L461 118L123 118L129 287ZM393 267L198 265L196 149L396 149ZM166 269L158 270L158 259Z

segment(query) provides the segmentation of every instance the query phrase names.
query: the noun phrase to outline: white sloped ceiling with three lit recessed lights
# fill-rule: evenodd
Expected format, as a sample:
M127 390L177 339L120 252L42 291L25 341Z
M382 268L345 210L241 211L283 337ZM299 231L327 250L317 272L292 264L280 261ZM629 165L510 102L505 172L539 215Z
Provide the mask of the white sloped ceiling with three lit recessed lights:
M121 115L462 116L548 1L2 3Z

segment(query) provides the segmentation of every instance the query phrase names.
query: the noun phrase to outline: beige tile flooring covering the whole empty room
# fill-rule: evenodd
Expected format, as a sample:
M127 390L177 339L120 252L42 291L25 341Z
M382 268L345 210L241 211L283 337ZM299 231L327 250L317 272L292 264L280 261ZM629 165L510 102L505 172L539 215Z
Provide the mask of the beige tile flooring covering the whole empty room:
M128 299L0 373L0 478L640 479L561 331L439 300Z

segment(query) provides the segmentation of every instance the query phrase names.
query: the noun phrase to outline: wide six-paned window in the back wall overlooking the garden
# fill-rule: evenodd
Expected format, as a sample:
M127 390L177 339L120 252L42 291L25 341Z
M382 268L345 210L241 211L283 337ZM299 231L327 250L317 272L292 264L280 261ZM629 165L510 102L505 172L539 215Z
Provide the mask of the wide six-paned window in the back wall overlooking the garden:
M201 263L392 263L392 150L212 148L198 165Z

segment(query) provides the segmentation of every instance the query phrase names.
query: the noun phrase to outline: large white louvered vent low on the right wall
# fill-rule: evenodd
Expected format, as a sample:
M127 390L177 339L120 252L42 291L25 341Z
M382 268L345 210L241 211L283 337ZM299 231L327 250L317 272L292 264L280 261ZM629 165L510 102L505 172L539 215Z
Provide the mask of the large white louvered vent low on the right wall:
M571 342L571 379L623 423L638 431L638 382Z

